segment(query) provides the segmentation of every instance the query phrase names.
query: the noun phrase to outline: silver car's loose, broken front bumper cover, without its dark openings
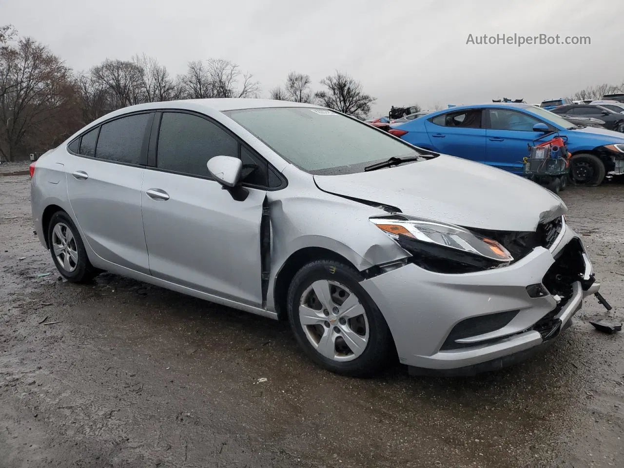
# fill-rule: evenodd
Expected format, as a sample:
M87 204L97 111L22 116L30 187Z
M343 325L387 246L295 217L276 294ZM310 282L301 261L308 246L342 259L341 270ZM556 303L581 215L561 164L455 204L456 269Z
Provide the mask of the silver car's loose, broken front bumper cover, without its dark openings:
M571 242L582 249L583 271L562 300L547 294L532 298L527 286L542 283L558 254ZM444 275L408 263L364 280L391 329L401 363L415 368L451 370L497 368L525 356L567 328L583 298L598 291L592 265L576 233L566 227L550 250L535 248L513 265L463 275ZM499 329L457 340L444 347L454 327L469 318L514 311ZM546 322L545 322L545 319ZM537 324L547 323L547 328Z

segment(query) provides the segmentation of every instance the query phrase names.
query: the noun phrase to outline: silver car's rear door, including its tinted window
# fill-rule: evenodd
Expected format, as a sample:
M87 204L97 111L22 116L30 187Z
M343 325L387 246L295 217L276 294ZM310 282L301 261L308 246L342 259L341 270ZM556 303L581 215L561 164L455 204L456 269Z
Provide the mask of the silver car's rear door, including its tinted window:
M120 117L72 144L67 194L84 240L106 261L149 273L141 188L153 113Z

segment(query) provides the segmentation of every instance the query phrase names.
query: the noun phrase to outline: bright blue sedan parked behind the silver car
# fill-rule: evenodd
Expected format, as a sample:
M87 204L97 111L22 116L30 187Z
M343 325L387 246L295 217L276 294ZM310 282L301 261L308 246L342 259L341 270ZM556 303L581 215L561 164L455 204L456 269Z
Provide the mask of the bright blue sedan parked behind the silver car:
M522 174L528 144L558 134L572 153L570 179L600 185L624 173L624 134L571 124L530 104L462 105L391 125L390 133L417 147Z

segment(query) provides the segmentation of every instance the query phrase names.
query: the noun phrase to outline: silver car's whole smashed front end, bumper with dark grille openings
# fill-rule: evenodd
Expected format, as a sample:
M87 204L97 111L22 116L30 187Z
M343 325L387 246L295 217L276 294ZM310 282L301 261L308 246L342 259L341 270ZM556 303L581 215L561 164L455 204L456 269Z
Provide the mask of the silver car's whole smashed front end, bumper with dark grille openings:
M563 217L542 223L534 237L500 241L516 248L508 266L448 274L407 261L361 283L401 363L458 373L502 367L558 336L600 287Z

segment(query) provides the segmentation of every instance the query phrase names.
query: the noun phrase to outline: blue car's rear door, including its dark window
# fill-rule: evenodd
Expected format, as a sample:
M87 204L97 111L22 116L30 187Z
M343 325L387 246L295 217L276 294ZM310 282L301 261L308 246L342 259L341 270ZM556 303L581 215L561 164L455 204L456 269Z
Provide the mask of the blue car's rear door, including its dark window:
M485 129L481 109L464 109L427 119L424 123L434 150L485 162Z

